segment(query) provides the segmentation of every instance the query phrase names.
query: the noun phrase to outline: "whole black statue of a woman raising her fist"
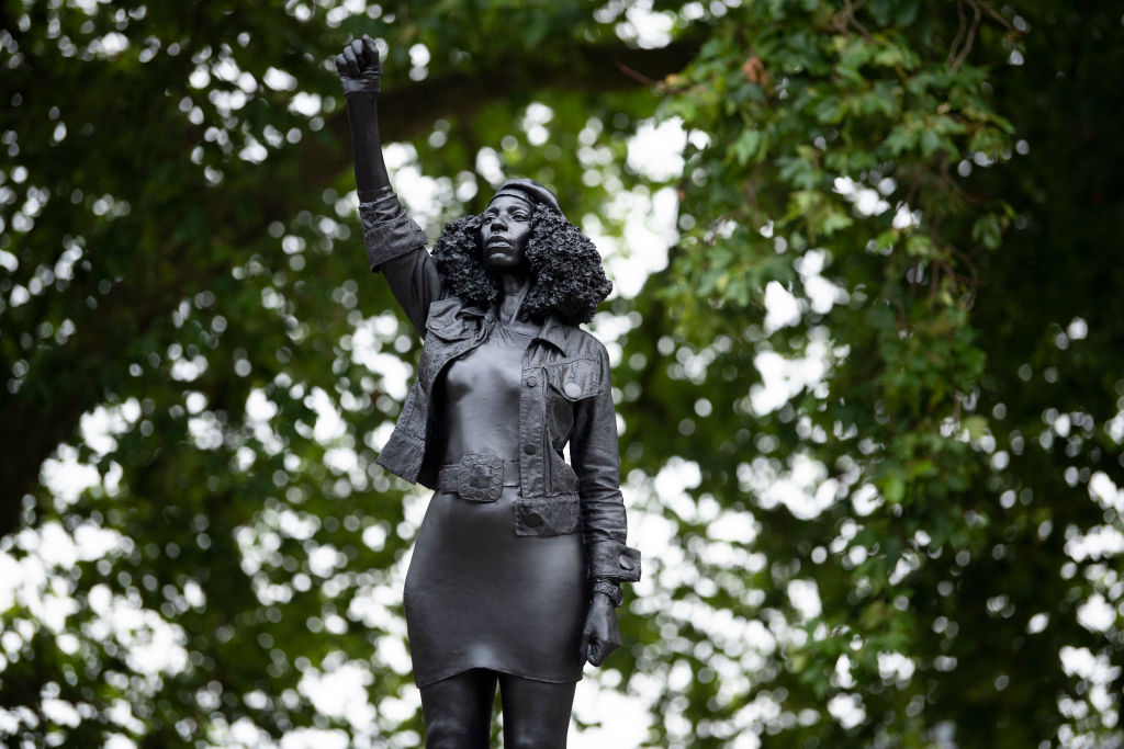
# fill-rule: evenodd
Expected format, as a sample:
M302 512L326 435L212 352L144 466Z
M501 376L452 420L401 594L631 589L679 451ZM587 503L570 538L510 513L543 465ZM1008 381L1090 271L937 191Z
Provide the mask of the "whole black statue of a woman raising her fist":
M369 37L336 57L371 270L424 339L379 464L435 490L406 577L426 747L564 747L582 665L620 645L625 546L605 346L579 329L611 284L593 244L532 180L426 237L391 191ZM570 464L563 447L570 444Z

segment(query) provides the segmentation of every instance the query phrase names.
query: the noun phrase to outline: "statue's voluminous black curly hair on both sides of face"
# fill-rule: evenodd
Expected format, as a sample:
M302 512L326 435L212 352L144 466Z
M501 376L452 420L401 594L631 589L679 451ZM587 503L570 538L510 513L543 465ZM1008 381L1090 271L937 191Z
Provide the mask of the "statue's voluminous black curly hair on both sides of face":
M532 221L526 249L531 289L519 319L542 322L554 314L569 325L589 322L613 290L597 247L581 229L544 205L535 205ZM488 275L481 257L480 216L446 223L433 257L450 291L466 303L488 309L499 296L499 282Z

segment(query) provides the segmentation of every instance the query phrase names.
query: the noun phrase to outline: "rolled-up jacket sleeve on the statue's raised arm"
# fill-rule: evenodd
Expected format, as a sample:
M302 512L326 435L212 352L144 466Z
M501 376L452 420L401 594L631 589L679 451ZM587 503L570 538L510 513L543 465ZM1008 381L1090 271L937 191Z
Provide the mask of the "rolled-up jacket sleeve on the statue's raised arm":
M429 304L443 295L437 265L426 252L426 236L386 188L359 204L371 271L381 272L418 335L425 334Z

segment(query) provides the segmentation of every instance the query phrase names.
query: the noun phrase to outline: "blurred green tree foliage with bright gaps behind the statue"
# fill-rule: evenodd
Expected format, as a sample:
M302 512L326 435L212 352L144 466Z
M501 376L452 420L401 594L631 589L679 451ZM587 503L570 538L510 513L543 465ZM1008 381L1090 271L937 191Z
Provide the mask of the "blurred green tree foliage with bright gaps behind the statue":
M0 739L419 743L364 33L430 237L533 176L633 289L645 579L580 691L652 747L1124 742L1124 28L1060 0L6 0Z

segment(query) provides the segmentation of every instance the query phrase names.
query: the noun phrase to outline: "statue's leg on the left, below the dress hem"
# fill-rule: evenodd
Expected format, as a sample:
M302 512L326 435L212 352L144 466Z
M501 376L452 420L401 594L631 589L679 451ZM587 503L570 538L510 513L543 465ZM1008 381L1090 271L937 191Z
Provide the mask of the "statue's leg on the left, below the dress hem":
M496 673L483 668L422 687L426 749L488 749Z

